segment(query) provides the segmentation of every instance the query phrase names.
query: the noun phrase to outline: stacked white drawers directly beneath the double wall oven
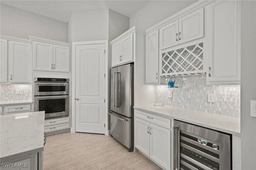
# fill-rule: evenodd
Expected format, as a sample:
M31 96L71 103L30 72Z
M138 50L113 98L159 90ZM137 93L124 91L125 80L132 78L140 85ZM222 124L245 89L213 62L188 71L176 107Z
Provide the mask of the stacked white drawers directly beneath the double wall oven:
M47 119L44 121L44 132L54 132L69 128L69 117Z

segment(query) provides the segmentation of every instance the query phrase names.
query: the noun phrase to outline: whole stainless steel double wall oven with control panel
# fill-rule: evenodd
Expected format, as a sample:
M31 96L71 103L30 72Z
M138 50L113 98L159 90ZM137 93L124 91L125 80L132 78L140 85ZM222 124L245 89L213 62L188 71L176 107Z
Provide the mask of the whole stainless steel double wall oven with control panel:
M35 78L34 110L45 111L45 119L69 115L68 81L62 78Z

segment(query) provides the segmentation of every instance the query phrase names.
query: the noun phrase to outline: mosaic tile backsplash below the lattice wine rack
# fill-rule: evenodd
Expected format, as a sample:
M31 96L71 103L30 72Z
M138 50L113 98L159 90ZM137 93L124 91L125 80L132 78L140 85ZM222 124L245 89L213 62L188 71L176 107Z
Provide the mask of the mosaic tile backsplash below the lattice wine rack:
M175 81L174 86L178 86L178 88L156 85L155 98L157 103L240 117L240 85L206 85L206 78L202 75L176 77ZM172 98L169 98L169 91L172 91ZM208 102L209 93L214 93L215 103Z

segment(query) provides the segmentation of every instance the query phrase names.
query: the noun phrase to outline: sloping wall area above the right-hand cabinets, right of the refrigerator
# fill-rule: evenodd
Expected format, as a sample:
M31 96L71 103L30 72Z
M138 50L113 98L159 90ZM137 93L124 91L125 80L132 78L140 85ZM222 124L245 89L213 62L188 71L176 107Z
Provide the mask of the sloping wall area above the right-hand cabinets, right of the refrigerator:
M196 0L151 0L130 17L130 28L139 26L146 30L194 2Z

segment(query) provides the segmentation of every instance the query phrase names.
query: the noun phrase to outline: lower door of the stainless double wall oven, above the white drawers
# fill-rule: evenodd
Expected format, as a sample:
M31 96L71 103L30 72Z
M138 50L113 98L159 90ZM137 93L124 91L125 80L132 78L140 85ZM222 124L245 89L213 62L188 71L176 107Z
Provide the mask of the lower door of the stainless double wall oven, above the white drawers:
M68 95L35 96L34 110L45 111L45 119L68 116Z

